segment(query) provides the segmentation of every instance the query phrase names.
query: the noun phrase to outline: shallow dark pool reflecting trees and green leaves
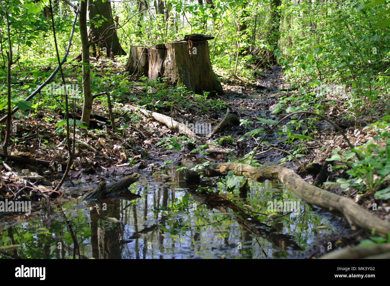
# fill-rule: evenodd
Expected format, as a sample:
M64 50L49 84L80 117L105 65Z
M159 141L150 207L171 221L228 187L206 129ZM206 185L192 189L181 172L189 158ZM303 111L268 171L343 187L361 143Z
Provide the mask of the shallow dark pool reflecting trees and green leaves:
M336 230L278 182L248 182L246 196L238 184L232 192L217 179L200 184L173 169L145 173L129 188L140 198L86 204L67 196L51 217L39 205L29 217L3 215L0 248L19 247L3 247L0 258L296 258ZM275 199L299 201L298 216L269 217Z

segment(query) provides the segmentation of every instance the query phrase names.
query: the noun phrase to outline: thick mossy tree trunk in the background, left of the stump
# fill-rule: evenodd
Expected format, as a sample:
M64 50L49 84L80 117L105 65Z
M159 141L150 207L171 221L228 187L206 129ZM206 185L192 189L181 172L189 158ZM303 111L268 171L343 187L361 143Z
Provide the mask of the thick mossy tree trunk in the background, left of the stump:
M119 43L117 31L115 29L114 19L112 17L111 2L103 3L102 0L89 0L89 19L91 20L90 36L92 41L100 38L98 45L102 49L106 48L107 55L126 55ZM97 21L102 21L100 25L96 25Z

